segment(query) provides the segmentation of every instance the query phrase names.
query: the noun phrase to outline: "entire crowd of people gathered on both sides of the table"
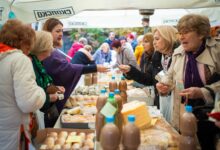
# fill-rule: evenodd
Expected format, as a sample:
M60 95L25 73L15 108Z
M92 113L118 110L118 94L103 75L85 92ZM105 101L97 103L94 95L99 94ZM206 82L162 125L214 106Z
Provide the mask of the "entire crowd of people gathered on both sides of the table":
M36 136L36 110L44 113L45 127L53 127L81 75L107 72L106 63L127 79L154 86L154 105L177 131L184 105L191 105L201 148L215 149L220 123L201 114L220 93L220 42L210 29L207 17L188 14L176 27L157 26L137 39L133 34L116 39L110 32L93 55L82 37L67 58L60 50L60 20L46 20L42 31L8 20L0 30L1 149L27 149Z

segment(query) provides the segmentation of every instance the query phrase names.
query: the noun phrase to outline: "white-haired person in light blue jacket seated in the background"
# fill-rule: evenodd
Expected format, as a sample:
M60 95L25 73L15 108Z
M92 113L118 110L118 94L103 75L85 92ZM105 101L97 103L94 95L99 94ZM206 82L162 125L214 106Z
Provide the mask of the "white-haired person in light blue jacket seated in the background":
M108 43L102 43L100 48L93 55L96 64L110 63L112 54Z

